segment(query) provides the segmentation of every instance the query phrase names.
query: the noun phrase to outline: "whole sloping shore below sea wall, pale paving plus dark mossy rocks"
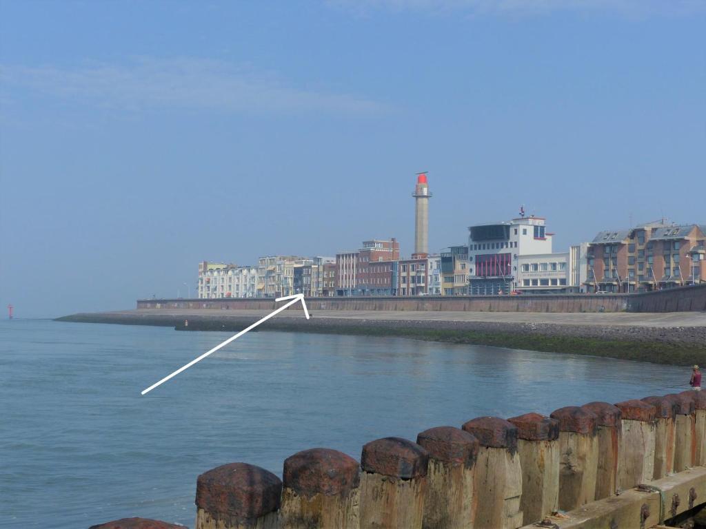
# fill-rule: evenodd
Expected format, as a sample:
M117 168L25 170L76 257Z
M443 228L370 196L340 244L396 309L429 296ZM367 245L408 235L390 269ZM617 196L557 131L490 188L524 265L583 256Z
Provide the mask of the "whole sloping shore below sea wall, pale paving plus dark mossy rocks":
M205 313L204 313L205 312ZM213 312L217 312L214 314ZM229 312L223 314L223 312ZM236 312L234 314L234 312ZM241 312L241 313L238 313ZM287 313L285 315L285 312ZM257 329L283 332L394 336L443 343L592 355L668 365L706 365L706 312L670 315L384 312L341 315L314 311L311 320L285 311ZM237 332L267 312L126 310L79 313L60 322L174 327ZM185 322L188 320L188 325Z

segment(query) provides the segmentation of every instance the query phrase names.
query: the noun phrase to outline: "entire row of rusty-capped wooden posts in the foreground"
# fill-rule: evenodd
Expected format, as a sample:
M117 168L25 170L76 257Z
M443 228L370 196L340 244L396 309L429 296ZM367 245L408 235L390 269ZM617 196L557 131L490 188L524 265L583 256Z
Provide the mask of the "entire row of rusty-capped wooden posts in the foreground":
M651 528L702 515L705 464L706 393L592 402L376 439L359 461L306 449L282 480L227 463L196 480L196 529Z

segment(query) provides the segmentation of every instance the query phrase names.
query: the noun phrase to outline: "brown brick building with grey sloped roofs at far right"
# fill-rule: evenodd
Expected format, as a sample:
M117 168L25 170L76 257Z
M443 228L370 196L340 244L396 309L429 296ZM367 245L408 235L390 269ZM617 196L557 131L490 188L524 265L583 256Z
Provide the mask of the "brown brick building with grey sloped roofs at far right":
M588 248L591 292L645 292L704 280L706 231L666 219L633 229L602 231Z

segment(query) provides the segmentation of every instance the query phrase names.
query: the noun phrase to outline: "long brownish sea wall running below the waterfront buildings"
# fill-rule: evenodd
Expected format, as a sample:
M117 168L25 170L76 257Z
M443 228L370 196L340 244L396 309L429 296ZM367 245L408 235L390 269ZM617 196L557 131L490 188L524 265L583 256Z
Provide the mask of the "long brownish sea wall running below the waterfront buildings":
M679 312L706 310L706 284L638 294L306 298L311 310ZM273 298L147 299L138 309L273 310Z

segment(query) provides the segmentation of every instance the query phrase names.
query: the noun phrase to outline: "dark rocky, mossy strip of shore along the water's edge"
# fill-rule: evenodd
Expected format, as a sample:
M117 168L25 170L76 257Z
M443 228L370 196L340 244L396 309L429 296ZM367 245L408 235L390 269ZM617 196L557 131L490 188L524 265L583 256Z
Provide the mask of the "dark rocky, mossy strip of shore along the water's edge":
M184 320L188 318L188 326ZM184 315L135 312L79 313L61 322L109 323L174 327L183 331L237 332L256 322L242 315ZM645 327L633 325L553 324L453 320L375 320L367 318L273 318L259 330L398 336L412 339L521 348L551 353L706 365L706 326Z

